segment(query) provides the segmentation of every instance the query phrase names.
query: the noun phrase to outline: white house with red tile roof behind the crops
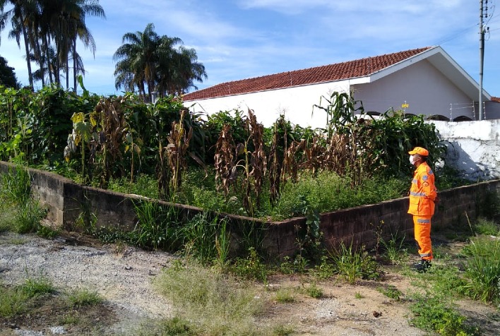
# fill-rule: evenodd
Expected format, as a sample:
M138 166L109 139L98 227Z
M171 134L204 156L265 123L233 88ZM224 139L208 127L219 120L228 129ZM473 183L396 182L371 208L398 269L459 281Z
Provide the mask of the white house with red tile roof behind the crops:
M354 92L371 114L479 119L479 85L439 46L220 83L184 95L184 106L207 114L252 109L265 126L285 114L293 124L324 127L326 113L314 104L326 106L335 91ZM499 119L499 99L483 90L482 100L484 119Z

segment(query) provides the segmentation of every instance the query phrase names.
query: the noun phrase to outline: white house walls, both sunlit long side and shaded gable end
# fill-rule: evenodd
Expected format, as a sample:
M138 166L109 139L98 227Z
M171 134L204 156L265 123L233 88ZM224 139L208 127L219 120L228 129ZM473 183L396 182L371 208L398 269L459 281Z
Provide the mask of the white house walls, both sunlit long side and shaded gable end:
M448 78L427 60L391 73L391 75L367 83L369 78L340 80L333 83L304 85L280 90L255 92L246 95L218 97L207 100L184 102L191 112L214 114L219 111L239 109L246 112L254 110L257 120L264 126L271 126L280 114L293 124L313 128L326 126L326 114L313 108L320 104L321 97L330 97L334 91L355 91L355 100L361 100L366 112L386 112L388 109L401 109L403 103L409 104L406 113L442 115L449 119L467 116L477 120L477 109L472 108L472 100L459 90ZM322 106L326 101L322 100ZM500 118L500 104L486 102L486 118Z

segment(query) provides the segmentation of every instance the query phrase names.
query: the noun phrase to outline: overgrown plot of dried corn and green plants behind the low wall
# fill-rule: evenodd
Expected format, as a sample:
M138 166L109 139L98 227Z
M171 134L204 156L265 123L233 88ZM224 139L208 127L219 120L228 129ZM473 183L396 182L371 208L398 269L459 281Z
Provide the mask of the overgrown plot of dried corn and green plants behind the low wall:
M354 114L362 109L352 97L338 92L315 112L324 109L328 127L312 130L283 116L264 128L251 111L205 121L172 96L144 104L129 93L2 90L2 160L118 191L143 193L139 184L147 186L143 196L239 215L287 218L301 197L323 212L402 196L411 173L407 150L426 146L431 162L444 152L421 116L386 112L367 119ZM311 192L325 183L335 187ZM338 200L332 197L339 192Z

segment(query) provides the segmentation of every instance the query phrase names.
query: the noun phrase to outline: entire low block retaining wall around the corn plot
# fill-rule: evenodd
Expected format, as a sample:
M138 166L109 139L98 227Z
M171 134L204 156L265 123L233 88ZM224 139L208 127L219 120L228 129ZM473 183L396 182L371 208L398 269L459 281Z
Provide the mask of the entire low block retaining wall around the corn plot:
M0 162L0 172L6 173L13 164ZM50 172L29 169L32 177L32 191L40 202L47 206L52 222L65 228L73 228L84 208L97 216L97 226L130 230L137 222L133 201L141 197L124 193L114 193L99 188L80 186L73 181ZM462 186L439 193L439 203L433 217L433 228L456 227L480 215L482 203L488 193L500 190L500 180L487 181L471 186ZM178 208L183 217L192 217L203 210L163 201L160 204ZM375 227L380 227L383 237L391 234L413 236L412 217L407 214L408 199L398 198L374 205L329 212L321 215L321 231L327 247L333 248L341 241L354 242L371 248L376 244ZM245 228L263 229L263 248L270 256L292 256L297 250L297 229L303 229L306 219L292 218L283 222L267 222L250 217L222 214L230 220L233 234L232 244L237 245ZM383 222L383 224L381 224ZM234 246L233 246L234 247ZM237 248L235 246L234 248Z

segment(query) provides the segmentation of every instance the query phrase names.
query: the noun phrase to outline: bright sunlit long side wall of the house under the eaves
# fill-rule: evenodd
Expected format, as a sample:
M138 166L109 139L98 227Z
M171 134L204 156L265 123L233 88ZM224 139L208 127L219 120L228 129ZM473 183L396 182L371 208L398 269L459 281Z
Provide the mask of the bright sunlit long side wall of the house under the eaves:
M191 112L206 112L206 114L232 109L239 109L246 113L248 109L252 109L257 121L266 127L272 126L280 114L285 114L285 118L292 124L325 128L326 114L321 109L313 109L314 104L319 105L321 101L321 105L326 106L326 101L321 96L329 98L332 92L347 92L348 88L349 81L342 80L247 95L190 101L184 102L184 106L189 107Z

